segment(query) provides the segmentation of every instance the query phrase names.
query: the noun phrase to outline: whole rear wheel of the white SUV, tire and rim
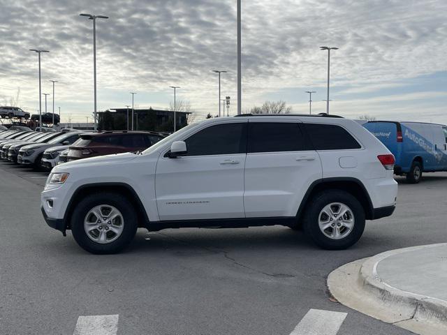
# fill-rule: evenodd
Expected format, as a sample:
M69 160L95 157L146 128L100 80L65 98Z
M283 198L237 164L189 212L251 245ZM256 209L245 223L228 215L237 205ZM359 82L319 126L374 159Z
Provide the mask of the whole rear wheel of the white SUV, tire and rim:
M345 191L318 193L305 212L303 228L318 246L328 250L349 248L365 230L365 210Z

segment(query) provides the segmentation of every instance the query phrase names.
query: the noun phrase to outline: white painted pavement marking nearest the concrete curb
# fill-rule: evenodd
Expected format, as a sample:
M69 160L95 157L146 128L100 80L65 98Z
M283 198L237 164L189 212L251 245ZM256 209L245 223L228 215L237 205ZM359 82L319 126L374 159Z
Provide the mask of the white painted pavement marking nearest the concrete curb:
M310 309L290 335L337 335L348 313Z

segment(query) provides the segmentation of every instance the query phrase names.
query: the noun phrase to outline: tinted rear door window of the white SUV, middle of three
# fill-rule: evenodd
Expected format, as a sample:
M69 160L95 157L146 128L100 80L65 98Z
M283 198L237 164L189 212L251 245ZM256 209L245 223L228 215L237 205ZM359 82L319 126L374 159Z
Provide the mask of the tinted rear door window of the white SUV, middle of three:
M302 150L302 135L298 124L281 122L249 122L247 152Z

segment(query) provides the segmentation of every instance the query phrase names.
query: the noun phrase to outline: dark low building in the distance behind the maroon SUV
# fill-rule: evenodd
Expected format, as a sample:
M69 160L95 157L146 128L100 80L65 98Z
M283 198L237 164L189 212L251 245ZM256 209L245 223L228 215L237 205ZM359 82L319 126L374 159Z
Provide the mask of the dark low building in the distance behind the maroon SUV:
M174 112L172 110L134 109L134 131L174 131ZM98 112L98 130L124 131L128 129L127 108L113 108ZM191 112L175 112L177 130L188 124ZM129 130L132 128L132 109L129 108Z

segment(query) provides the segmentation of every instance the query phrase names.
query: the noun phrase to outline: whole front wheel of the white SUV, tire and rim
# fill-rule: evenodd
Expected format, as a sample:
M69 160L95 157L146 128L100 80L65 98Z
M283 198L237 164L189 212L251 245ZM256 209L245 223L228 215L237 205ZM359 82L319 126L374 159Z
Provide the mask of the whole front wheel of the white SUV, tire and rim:
M117 193L87 195L73 211L71 231L78 244L90 253L118 253L137 231L133 205Z

